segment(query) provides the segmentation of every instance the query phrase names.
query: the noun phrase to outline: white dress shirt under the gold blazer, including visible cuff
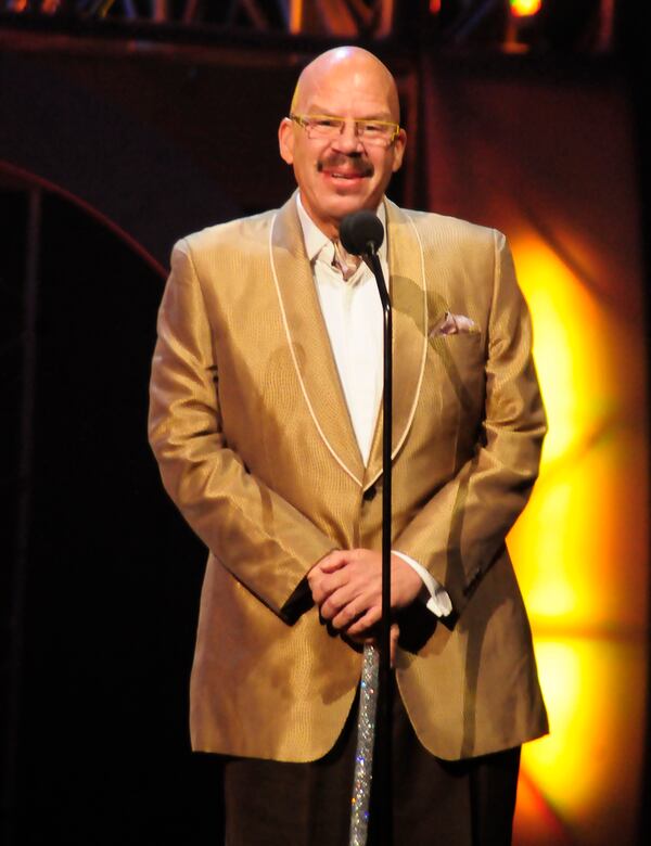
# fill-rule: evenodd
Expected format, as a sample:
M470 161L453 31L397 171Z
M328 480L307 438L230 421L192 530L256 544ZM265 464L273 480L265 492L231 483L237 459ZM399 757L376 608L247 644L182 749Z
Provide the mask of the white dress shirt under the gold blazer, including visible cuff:
M349 266L345 279L342 266L349 265L355 258L347 256L341 245L335 246L321 232L303 207L299 195L296 204L353 430L363 463L368 464L383 389L383 320L378 284L363 261L355 270ZM385 227L383 203L378 208L378 217ZM386 239L378 256L384 278L388 280ZM452 606L445 588L409 555L397 550L393 552L422 579L430 593L426 607L439 617L449 614Z

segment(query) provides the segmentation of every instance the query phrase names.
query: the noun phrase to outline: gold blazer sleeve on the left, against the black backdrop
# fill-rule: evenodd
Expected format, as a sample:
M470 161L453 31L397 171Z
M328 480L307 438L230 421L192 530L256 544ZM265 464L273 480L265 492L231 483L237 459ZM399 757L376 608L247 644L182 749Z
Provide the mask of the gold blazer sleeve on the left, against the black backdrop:
M165 489L215 557L291 623L310 600L304 576L336 544L225 441L218 362L187 241L173 251L157 333L149 438Z

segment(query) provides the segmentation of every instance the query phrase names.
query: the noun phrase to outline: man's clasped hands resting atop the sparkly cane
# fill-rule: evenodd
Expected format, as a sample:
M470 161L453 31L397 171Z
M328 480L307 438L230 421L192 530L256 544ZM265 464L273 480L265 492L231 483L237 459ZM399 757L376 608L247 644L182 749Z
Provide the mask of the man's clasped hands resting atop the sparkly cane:
M382 618L382 555L369 549L334 550L307 574L312 600L321 617L355 643L374 643ZM403 559L391 556L391 607L409 605L423 582ZM391 662L394 663L399 629L391 627Z

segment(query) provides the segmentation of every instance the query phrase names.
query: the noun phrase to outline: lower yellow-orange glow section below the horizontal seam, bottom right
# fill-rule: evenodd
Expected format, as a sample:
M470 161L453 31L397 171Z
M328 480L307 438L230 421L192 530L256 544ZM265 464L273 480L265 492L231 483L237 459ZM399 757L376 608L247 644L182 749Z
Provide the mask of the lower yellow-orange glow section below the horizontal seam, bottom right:
M537 640L551 734L524 747L522 768L554 819L570 824L572 842L635 842L644 748L643 652L643 643L611 639ZM623 703L617 695L623 691L636 695Z

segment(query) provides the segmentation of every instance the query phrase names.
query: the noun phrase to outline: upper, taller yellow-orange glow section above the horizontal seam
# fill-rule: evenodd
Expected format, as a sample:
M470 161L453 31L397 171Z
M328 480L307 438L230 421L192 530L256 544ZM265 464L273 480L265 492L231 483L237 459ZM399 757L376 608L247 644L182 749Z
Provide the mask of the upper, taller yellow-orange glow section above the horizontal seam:
M542 241L523 239L513 248L549 418L540 478L509 536L520 584L538 624L595 628L627 620L643 627L648 446L639 413L646 394L641 330L631 331ZM622 561L639 562L626 578Z

